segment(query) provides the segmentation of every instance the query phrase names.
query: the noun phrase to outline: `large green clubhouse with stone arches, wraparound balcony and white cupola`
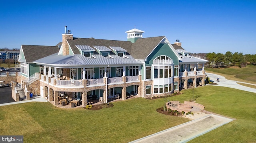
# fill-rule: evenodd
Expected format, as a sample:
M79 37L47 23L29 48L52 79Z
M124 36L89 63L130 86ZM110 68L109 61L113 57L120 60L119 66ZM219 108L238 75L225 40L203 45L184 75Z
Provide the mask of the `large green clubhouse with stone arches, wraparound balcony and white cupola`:
M143 38L144 31L135 28L126 33L127 41L76 38L65 26L56 46L22 45L18 82L55 105L64 94L82 106L92 97L108 102L204 86L207 61L192 57L179 40Z

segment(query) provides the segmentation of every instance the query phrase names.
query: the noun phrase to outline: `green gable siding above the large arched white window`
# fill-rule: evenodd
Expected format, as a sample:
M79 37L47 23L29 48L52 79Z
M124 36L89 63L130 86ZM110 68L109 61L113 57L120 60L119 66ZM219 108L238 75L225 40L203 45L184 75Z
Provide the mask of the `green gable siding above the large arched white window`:
M174 65L179 64L179 59L175 55L174 51L169 47L168 44L159 44L156 49L148 56L147 61L145 61L146 66L151 66L153 60L160 55L166 55L173 60Z

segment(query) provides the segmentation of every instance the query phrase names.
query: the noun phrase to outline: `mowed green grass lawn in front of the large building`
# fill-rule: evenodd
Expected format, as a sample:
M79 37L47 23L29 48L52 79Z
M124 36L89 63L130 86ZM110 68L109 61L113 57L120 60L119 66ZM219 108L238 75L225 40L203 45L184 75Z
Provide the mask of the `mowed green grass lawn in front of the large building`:
M178 96L114 102L102 110L56 108L48 102L0 106L0 135L24 135L24 142L126 143L189 121L156 112L168 100L192 99L205 110L236 118L190 142L256 141L256 94L219 86L182 90Z

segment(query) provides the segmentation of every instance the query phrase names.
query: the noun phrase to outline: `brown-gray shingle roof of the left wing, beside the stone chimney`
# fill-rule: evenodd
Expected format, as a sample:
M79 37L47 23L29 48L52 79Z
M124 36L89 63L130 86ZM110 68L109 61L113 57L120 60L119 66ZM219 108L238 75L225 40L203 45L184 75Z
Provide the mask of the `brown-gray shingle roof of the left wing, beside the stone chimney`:
M59 52L58 46L21 45L26 62L36 61Z

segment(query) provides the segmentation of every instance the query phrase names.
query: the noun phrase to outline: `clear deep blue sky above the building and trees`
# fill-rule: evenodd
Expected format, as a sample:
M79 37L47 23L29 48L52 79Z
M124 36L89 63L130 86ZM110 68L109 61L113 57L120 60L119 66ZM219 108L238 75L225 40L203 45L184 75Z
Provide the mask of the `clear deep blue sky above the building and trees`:
M0 18L0 48L56 45L65 25L74 37L126 41L136 25L191 53L256 54L255 0L5 0Z

